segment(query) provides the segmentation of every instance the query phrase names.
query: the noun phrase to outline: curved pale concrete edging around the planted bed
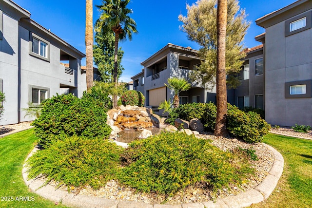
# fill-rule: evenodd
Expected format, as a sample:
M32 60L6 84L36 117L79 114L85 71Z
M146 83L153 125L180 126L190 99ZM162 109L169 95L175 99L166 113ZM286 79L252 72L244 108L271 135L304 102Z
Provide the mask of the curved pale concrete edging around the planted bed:
M61 202L63 205L75 208L244 208L252 204L259 203L264 199L268 198L270 194L275 189L277 182L282 175L284 168L283 156L276 151L273 147L264 144L269 150L273 151L274 154L274 164L272 169L266 178L254 189L250 189L246 192L240 193L235 196L228 196L225 198L216 199L215 202L208 201L202 203L188 203L181 205L151 205L144 202L135 201L120 201L114 199L104 199L100 197L75 195L73 193L68 193L67 191L55 189L50 185L46 185L40 188L44 181L40 179L28 180L28 172L26 163L23 166L22 175L25 184L33 192L39 194L40 196L49 199L54 202ZM35 147L34 150L27 156L26 160L33 155L38 148Z

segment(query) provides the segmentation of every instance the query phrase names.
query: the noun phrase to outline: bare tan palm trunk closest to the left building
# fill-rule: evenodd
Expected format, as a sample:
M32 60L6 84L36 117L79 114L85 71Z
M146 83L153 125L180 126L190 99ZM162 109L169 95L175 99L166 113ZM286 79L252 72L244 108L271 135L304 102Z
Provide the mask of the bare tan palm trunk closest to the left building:
M86 0L86 81L87 90L93 85L93 3L92 0Z

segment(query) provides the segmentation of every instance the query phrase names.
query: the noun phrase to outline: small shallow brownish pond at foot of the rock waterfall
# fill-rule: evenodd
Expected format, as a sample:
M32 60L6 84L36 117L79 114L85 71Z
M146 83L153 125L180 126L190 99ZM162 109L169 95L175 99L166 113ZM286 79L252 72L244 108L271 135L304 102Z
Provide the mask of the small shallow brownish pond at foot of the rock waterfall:
M145 128L146 130L150 130L153 135L162 132L162 129L156 127ZM141 131L135 129L125 129L122 132L118 133L118 137L116 138L117 142L123 143L130 143L134 140L139 140L138 136L140 135Z

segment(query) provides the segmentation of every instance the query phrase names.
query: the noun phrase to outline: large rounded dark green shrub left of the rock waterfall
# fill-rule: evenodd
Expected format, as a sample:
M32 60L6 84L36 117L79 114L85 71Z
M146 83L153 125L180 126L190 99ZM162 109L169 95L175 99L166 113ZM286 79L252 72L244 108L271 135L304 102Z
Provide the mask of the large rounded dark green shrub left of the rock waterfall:
M41 114L32 125L43 146L60 135L108 138L111 128L106 124L106 107L92 96L56 95L43 101Z

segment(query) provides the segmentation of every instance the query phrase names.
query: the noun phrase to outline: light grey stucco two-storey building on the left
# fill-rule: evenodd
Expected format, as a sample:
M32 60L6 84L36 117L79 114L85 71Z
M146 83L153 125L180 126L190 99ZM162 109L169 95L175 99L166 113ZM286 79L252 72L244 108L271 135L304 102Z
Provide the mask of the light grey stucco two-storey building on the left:
M29 102L57 93L80 97L86 89L80 69L85 55L30 16L13 1L0 0L0 90L6 99L0 125L33 120L22 110Z

